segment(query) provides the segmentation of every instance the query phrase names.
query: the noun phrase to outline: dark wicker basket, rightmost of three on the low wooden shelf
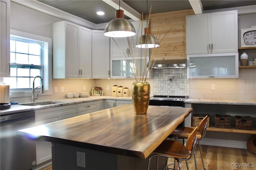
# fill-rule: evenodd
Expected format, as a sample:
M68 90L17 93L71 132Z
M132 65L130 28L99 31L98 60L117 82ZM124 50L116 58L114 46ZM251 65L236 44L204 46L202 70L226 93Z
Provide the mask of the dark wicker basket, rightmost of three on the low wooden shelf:
M252 130L252 117L236 115L235 128L242 130Z

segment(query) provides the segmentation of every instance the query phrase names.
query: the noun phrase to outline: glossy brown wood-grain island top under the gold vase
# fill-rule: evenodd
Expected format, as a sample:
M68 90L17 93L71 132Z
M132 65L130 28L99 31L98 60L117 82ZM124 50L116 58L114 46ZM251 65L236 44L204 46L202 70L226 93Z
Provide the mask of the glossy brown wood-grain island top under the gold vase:
M192 108L149 106L146 115L122 105L22 129L21 135L62 145L145 159Z

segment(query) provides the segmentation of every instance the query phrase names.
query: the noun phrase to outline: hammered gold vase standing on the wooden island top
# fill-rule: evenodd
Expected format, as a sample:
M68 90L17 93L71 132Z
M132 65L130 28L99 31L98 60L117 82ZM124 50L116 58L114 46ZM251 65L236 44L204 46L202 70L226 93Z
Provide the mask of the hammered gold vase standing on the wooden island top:
M148 82L132 83L132 104L137 115L147 114L150 97L150 84Z

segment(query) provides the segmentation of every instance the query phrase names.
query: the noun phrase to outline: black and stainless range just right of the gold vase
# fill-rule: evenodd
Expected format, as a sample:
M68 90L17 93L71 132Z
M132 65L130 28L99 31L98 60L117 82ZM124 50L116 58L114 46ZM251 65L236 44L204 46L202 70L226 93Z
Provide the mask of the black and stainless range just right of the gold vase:
M153 96L149 100L149 105L185 107L184 101L187 99L188 96Z

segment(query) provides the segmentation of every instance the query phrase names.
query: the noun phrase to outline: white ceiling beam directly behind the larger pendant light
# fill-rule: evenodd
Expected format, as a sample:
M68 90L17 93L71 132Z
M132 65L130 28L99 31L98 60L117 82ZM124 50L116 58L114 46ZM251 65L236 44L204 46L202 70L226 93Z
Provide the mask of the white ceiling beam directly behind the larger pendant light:
M103 2L106 2L108 5L112 6L116 10L119 10L119 0L102 0ZM134 21L140 21L141 20L141 14L138 13L136 10L128 6L126 3L124 3L122 0L120 0L120 9L124 10L124 15L128 16Z

